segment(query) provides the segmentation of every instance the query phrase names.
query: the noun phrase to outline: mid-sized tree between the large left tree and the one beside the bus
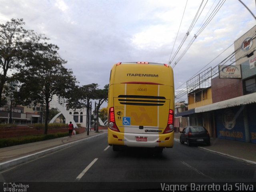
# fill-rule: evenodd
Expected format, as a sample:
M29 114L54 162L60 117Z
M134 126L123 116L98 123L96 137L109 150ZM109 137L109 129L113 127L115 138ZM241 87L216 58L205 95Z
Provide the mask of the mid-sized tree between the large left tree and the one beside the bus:
M69 92L69 97L67 98L67 108L68 109L81 109L86 108L87 111L87 135L89 135L89 124L90 124L90 114L89 110L91 108L92 102L90 100L95 99L95 91L98 84L92 83L80 87L76 87L72 92Z

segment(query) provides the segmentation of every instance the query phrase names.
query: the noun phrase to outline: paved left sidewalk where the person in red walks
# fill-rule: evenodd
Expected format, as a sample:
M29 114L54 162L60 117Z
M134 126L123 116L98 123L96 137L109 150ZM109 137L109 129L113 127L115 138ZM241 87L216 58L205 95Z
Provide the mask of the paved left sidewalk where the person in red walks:
M87 135L87 132L83 132L81 134L73 135L71 138L66 136L51 140L0 148L0 170L33 160L40 156L77 144L78 142L98 137L104 133L106 133L106 130L99 130L99 133L92 130L89 132L89 135Z

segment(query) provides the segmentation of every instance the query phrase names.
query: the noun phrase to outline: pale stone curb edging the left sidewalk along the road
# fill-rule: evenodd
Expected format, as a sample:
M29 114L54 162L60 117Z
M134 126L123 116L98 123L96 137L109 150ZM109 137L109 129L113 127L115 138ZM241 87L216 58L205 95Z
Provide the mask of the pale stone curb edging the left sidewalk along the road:
M9 167L18 165L18 164L22 164L24 162L28 162L30 160L34 160L34 159L42 157L42 156L44 156L46 154L50 154L52 152L56 152L56 151L58 151L58 150L60 150L62 148L66 148L68 146L73 146L73 145L79 144L81 142L84 142L86 140L91 140L93 138L102 136L103 134L106 134L106 133L104 132L104 133L101 133L101 134L98 134L98 135L90 136L88 138L84 138L84 139L81 139L81 140L77 140L77 141L74 141L74 142L70 142L70 143L67 143L67 144L56 146L54 148L50 148L50 149L46 149L46 150L43 150L43 151L40 151L40 152L36 152L34 154L30 154L30 155L27 155L27 156L24 156L24 157L20 157L20 158L14 159L14 160L10 160L10 161L6 161L6 162L3 162L3 163L0 163L0 171L4 170L6 168L9 168Z

